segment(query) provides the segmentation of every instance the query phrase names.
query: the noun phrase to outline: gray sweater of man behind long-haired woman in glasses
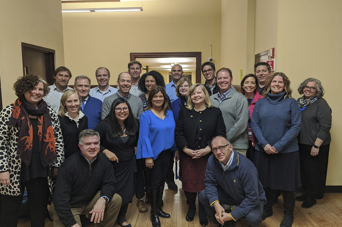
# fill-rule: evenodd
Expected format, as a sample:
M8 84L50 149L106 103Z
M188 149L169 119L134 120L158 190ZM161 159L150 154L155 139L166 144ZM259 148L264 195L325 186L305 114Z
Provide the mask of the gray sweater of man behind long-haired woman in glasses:
M119 97L120 96L118 95L118 93L105 97L102 104L101 120L107 117L110 112L111 104L115 99ZM141 101L141 99L139 97L136 97L135 95L130 94L127 98L127 101L131 106L134 117L140 120L140 115L143 113L143 102Z

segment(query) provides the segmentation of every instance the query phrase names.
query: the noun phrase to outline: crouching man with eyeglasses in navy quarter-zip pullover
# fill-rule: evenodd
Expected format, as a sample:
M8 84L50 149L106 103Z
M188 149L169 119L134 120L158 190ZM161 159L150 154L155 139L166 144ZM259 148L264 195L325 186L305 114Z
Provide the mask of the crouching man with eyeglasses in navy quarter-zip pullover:
M250 226L259 226L266 196L257 169L248 158L234 151L224 136L215 136L211 147L214 155L208 159L205 190L199 193L198 200L218 226L235 226L241 217ZM228 213L222 203L237 207Z

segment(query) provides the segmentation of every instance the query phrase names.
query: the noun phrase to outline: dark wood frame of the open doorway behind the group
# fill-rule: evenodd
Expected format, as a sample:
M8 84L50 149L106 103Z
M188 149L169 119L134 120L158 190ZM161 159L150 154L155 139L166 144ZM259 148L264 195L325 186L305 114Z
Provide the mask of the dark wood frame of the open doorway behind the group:
M149 52L130 53L130 60L135 58L196 58L196 83L201 83L201 52Z

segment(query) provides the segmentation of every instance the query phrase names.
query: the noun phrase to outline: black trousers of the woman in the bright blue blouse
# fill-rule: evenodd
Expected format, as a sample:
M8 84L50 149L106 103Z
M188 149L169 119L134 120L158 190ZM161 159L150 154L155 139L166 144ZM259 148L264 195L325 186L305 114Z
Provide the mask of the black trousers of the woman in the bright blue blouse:
M148 177L150 179L150 189L157 190L160 187L164 187L171 157L171 150L162 151L158 158L153 160L153 168L147 169Z

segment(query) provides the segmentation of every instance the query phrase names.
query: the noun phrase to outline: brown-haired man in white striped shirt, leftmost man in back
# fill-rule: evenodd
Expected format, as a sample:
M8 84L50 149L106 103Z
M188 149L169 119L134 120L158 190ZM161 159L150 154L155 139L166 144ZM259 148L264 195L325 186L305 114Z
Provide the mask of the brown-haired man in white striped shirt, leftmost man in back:
M71 78L71 72L68 68L60 66L53 73L53 78L56 80L56 82L49 86L50 92L46 97L44 97L44 101L58 114L63 93L69 89L73 89L68 86L69 80Z

